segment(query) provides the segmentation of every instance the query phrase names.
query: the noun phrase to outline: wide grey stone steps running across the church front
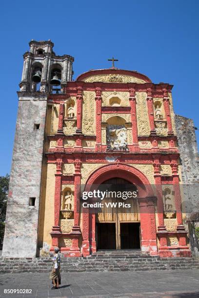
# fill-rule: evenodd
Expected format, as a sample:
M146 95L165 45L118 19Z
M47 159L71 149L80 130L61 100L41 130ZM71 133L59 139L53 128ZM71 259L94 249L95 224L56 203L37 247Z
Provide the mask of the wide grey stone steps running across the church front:
M0 273L49 272L51 258L0 258ZM199 269L195 258L159 258L139 250L107 250L85 258L62 258L61 272Z

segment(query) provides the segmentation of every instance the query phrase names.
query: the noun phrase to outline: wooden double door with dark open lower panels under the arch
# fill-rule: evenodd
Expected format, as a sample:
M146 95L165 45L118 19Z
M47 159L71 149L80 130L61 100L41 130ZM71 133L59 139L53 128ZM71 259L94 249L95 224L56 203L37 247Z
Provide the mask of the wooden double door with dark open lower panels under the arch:
M105 181L100 190L107 191L136 191L136 187L120 178ZM140 248L140 218L137 199L105 197L104 207L96 214L97 249L139 249ZM107 205L105 206L105 203ZM108 204L111 203L111 204ZM113 203L115 205L113 205ZM117 204L116 204L117 203ZM119 203L131 207L119 206Z

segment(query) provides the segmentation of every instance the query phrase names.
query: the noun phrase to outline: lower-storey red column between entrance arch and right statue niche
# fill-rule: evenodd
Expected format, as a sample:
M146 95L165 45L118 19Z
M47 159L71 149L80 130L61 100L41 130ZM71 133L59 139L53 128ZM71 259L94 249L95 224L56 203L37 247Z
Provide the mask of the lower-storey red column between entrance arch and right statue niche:
M159 156L156 155L154 157L154 178L155 178L155 186L156 186L156 196L157 196L157 212L158 212L158 235L160 242L160 249L162 246L167 245L167 231L164 225L164 205L163 205L163 197L162 197L162 186L161 186L161 174L160 174L160 163Z

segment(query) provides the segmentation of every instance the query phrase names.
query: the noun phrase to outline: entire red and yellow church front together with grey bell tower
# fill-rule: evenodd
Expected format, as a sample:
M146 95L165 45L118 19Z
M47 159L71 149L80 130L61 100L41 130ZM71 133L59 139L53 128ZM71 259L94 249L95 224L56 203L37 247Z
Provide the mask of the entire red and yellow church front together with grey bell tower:
M191 256L173 86L115 66L73 81L73 60L50 40L24 54L3 256ZM80 187L125 183L129 212L83 207Z

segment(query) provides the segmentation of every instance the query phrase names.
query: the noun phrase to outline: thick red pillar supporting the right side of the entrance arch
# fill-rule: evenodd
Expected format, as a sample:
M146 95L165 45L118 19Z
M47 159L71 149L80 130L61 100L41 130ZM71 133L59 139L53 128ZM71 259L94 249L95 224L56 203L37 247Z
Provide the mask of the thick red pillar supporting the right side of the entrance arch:
M141 251L157 255L155 197L139 198Z

